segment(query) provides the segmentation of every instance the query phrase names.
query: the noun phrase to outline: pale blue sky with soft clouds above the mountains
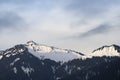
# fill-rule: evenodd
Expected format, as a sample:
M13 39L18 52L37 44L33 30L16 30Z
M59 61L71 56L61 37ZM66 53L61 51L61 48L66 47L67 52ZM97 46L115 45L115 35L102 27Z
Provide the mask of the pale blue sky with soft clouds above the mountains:
M120 0L0 0L0 50L33 40L86 54L119 35Z

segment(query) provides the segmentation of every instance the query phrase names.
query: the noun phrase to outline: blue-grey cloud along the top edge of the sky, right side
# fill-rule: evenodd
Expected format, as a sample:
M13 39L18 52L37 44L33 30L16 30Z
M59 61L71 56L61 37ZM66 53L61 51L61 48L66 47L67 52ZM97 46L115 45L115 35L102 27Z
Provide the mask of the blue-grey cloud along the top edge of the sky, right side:
M106 12L109 7L119 5L119 0L70 0L65 9L77 15L97 16Z

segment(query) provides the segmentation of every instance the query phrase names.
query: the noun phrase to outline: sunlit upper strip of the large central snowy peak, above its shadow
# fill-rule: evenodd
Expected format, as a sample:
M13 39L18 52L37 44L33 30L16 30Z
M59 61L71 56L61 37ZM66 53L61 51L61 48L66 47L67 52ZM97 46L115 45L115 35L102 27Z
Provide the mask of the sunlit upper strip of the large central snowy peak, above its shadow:
M47 46L44 44L38 44L34 41L28 41L27 44L25 45L28 49L31 49L35 52L42 52L42 53L50 53L50 52L64 52L64 53L78 53L81 54L80 52L70 50L70 49L61 49L53 46ZM82 54L81 54L82 55Z

